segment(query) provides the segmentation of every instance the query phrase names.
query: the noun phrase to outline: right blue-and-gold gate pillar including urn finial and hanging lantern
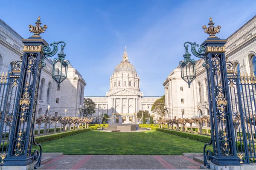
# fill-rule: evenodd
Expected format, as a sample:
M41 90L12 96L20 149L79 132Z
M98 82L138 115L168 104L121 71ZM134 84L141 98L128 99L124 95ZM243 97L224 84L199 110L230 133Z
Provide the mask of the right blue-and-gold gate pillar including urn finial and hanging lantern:
M188 51L191 45L192 54L204 60L202 65L207 70L209 110L212 111L210 114L211 141L204 146L204 165L210 168L207 160L211 160L211 163L216 166L239 165L227 79L227 68L230 68L225 57L224 45L227 40L221 40L215 35L220 32L221 26L215 27L212 17L208 25L209 27L203 26L203 29L209 37L201 45L196 42L184 43L186 52L183 55L184 59L180 61L181 78L188 83L189 88L196 78L196 61L190 58L191 54ZM196 47L199 48L196 49ZM206 147L211 144L213 154L210 150L206 150ZM244 147L247 147L246 144ZM218 167L213 168L218 169Z

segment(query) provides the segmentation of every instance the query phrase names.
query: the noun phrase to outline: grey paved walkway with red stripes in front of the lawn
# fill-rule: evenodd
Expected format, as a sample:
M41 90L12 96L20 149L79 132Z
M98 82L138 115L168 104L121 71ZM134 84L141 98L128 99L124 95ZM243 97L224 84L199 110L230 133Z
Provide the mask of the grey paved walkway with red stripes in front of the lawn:
M44 163L42 170L199 169L186 156L64 155Z

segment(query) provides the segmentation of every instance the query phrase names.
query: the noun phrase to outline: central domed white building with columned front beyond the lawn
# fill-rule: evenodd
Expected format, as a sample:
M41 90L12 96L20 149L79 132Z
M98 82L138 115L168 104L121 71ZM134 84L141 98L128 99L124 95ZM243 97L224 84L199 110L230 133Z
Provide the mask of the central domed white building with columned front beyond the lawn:
M140 77L135 67L129 62L128 54L125 52L122 61L116 66L110 77L109 91L106 96L85 96L96 103L96 113L92 116L94 121L108 114L111 122L132 122L138 123L138 111L148 111L159 96L144 96L140 92ZM153 114L157 118L157 114Z

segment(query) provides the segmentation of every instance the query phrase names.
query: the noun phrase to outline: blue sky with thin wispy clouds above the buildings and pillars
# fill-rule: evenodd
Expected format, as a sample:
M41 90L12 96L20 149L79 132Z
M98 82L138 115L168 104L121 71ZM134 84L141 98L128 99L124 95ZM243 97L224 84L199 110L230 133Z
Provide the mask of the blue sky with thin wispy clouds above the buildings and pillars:
M183 58L183 43L201 44L210 16L226 39L256 15L255 6L255 0L5 0L0 18L28 38L28 25L40 15L48 26L41 36L66 42L66 58L87 83L85 96L105 96L125 45L144 96L162 96L162 83Z

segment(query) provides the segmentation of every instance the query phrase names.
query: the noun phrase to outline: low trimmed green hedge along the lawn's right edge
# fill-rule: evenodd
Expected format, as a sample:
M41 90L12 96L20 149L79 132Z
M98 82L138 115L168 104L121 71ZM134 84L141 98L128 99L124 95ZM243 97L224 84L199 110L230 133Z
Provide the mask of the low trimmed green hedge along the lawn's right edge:
M170 133L170 134L180 136L183 138L193 139L193 140L196 140L199 142L204 142L204 143L209 143L211 140L211 136L198 135L198 134L187 133L187 132L180 132L180 131L176 131L176 130L167 130L167 129L159 129L159 128L152 128L152 129L160 131L160 132Z

